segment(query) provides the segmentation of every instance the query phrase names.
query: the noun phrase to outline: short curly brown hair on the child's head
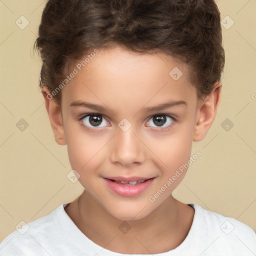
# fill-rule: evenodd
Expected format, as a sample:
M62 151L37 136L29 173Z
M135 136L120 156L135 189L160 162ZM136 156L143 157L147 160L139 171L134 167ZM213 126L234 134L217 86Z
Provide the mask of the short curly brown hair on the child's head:
M223 71L214 0L48 0L34 42L42 59L39 87L52 92L73 60L111 44L179 59L188 65L200 98L211 92ZM60 103L61 93L53 99Z

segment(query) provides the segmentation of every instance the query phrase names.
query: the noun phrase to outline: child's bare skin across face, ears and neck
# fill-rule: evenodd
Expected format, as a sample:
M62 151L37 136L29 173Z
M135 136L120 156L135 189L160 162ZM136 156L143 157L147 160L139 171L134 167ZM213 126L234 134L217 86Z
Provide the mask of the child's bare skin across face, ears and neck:
M174 67L183 73L177 81L169 75ZM172 196L186 170L154 202L148 199L189 160L192 141L204 138L216 114L221 84L215 83L212 92L198 100L187 70L164 53L139 54L115 46L100 48L62 88L60 106L42 88L55 140L67 145L70 165L85 188L65 211L89 239L105 249L141 254L168 251L185 239L191 227L194 209ZM76 100L107 110L70 106ZM171 100L186 104L160 111L143 109ZM100 127L88 117L78 120L86 113L101 114ZM152 116L163 113L176 121L166 117L157 126ZM118 126L123 118L131 124L126 131ZM102 176L155 179L141 194L128 197L110 190ZM118 229L123 221L131 227L126 234Z

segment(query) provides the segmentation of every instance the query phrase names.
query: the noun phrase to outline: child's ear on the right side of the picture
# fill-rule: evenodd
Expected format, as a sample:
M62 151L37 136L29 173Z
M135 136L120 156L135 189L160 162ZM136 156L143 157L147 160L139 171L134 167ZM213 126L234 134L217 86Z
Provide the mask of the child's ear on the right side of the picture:
M221 83L216 82L211 93L204 99L200 99L197 106L193 141L200 141L207 134L216 115L221 96L221 87Z

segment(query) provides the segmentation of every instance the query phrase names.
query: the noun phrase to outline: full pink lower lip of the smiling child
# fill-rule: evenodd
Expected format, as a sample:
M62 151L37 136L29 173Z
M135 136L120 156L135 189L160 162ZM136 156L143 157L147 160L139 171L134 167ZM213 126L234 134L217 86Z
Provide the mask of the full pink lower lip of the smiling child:
M117 183L115 181L111 181L108 178L104 178L108 187L113 190L115 193L122 195L122 196L136 196L143 191L146 190L148 186L152 183L154 178L149 178L144 182L141 182L137 185L125 185L121 183Z

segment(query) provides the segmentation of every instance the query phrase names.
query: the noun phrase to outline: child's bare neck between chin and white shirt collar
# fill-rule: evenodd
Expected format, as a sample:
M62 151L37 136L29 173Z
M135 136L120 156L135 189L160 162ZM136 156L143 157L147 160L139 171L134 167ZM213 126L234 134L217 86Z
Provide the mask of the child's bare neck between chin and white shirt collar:
M144 218L125 221L113 217L86 190L74 202L73 213L66 211L76 226L93 242L119 253L150 254L175 248L192 223L185 212L193 209L172 195Z

